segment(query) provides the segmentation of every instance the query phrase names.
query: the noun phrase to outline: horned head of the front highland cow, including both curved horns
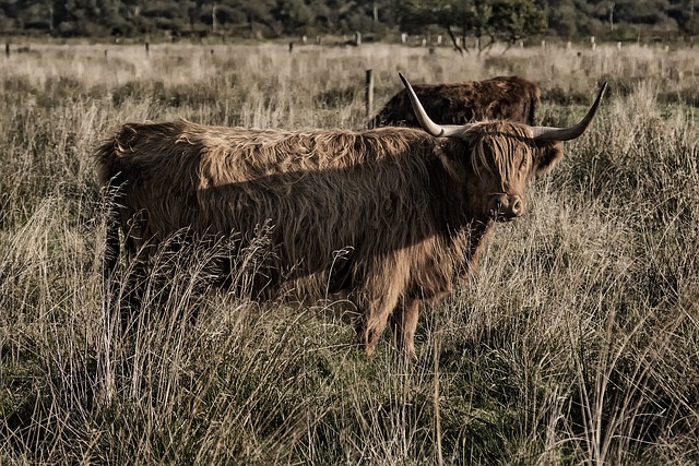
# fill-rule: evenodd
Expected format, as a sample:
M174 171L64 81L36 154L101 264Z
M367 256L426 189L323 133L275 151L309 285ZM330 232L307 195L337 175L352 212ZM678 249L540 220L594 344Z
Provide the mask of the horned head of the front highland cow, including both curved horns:
M435 138L451 138L466 143L469 154L443 151L440 158L452 176L466 180L471 211L498 222L510 220L524 213L526 182L549 170L560 159L561 141L576 139L585 131L607 87L606 83L602 85L588 115L570 128L530 127L508 121L441 126L427 116L411 84L401 73L399 75L423 129ZM467 177L466 172L476 176Z

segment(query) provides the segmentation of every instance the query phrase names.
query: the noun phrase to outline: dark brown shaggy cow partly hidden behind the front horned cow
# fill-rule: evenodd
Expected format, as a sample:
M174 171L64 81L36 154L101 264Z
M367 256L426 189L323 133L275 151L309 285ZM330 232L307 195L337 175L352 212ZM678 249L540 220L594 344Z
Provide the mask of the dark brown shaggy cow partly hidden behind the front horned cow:
M497 76L485 81L416 84L415 94L427 115L440 124L509 120L534 124L540 103L538 86L520 76ZM369 128L419 127L405 89L396 93L369 122Z

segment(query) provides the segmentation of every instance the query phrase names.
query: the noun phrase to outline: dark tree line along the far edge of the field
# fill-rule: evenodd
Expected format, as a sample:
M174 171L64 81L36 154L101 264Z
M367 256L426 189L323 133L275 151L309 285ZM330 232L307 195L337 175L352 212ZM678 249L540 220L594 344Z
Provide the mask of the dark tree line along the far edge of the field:
M359 31L378 39L451 32L510 44L538 34L636 40L695 35L695 0L0 0L0 32L274 38Z

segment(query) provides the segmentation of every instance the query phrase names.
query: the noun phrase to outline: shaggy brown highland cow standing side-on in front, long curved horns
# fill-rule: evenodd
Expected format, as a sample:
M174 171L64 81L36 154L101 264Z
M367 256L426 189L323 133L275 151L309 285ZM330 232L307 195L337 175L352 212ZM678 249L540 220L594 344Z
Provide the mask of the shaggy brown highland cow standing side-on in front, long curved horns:
M438 126L403 81L424 130L125 124L97 151L102 180L120 190L109 248L120 225L129 254L147 262L144 246L188 228L235 238L235 255L263 229L260 289L344 292L364 315L367 353L392 318L413 356L420 302L445 297L473 268L496 222L524 213L528 180L561 157L560 141L583 133L606 84L578 124L557 129Z

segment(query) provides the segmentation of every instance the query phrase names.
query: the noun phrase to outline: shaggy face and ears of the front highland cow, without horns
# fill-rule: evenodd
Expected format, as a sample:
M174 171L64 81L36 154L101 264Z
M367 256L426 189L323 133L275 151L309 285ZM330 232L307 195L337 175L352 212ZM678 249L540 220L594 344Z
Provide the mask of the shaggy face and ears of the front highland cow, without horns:
M478 123L470 128L464 139L467 151L459 158L466 159L449 157L448 163L465 163L460 171L467 204L474 215L484 219L507 222L524 214L528 181L549 170L562 156L559 142L535 143L523 124Z

